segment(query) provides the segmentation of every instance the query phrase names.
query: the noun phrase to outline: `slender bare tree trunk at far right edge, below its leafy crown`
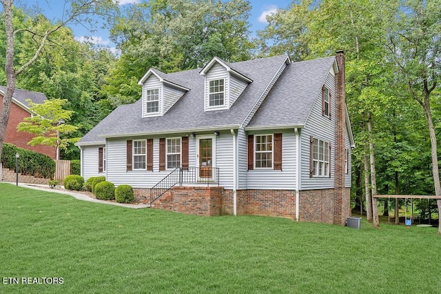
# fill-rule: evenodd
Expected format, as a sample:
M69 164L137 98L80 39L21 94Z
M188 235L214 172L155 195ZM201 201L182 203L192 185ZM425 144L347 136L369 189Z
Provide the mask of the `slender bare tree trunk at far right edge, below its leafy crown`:
M441 185L440 185L440 173L438 169L438 152L437 152L437 142L435 135L435 127L433 126L432 114L430 110L429 95L424 97L424 112L426 112L427 126L429 127L429 135L431 142L431 154L432 154L432 173L433 173L433 184L435 186L435 195L441 196ZM441 199L436 200L438 204L438 220L440 219L441 211ZM438 222L438 234L441 234L441 222Z

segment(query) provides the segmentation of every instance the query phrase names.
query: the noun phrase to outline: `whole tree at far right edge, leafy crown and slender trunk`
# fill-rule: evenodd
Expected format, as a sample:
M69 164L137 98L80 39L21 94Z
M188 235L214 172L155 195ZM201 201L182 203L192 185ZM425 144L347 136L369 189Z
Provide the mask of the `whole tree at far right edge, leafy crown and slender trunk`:
M431 106L437 97L433 91L439 87L441 73L441 6L436 0L407 0L400 1L400 4L398 15L387 15L389 38L385 45L411 97L418 101L426 115L435 195L441 196L438 147ZM441 211L441 200L437 204L438 211ZM441 233L441 222L438 233Z

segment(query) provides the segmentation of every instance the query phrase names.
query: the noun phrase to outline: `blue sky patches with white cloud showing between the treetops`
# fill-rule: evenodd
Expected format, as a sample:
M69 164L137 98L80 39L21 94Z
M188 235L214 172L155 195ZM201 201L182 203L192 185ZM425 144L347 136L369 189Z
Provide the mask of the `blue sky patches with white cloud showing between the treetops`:
M139 3L143 0L119 0L120 6L130 5L131 3ZM28 7L37 5L45 14L48 19L52 21L57 21L60 19L63 13L63 0L33 0L26 1ZM251 0L249 1L252 5L251 15L249 17L249 23L252 27L252 35L255 35L256 30L262 30L266 26L265 15L274 13L278 8L287 8L291 3L291 0ZM97 43L101 46L108 46L114 50L114 43L109 40L109 32L101 28L95 28L95 30L90 30L91 28L85 26L72 26L74 36L77 40L83 41L88 39L93 43Z

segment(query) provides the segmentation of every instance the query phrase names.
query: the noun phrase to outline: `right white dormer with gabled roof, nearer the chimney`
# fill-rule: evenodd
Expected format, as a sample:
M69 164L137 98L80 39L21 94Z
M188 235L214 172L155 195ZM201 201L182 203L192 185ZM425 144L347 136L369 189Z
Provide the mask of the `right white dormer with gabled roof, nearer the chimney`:
M218 57L209 61L200 73L205 76L205 111L229 109L252 82Z

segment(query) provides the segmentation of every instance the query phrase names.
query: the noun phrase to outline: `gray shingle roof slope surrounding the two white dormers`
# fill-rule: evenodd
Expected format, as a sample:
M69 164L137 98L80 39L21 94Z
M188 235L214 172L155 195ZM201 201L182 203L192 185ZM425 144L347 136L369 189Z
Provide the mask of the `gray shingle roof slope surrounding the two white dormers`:
M243 123L256 101L265 91L287 55L232 63L234 68L253 80L228 110L204 112L204 81L198 69L167 74L183 81L190 90L162 117L142 117L142 98L134 104L116 108L85 135L79 145L104 143L103 137L123 137L136 134L171 133L173 130L227 128Z

